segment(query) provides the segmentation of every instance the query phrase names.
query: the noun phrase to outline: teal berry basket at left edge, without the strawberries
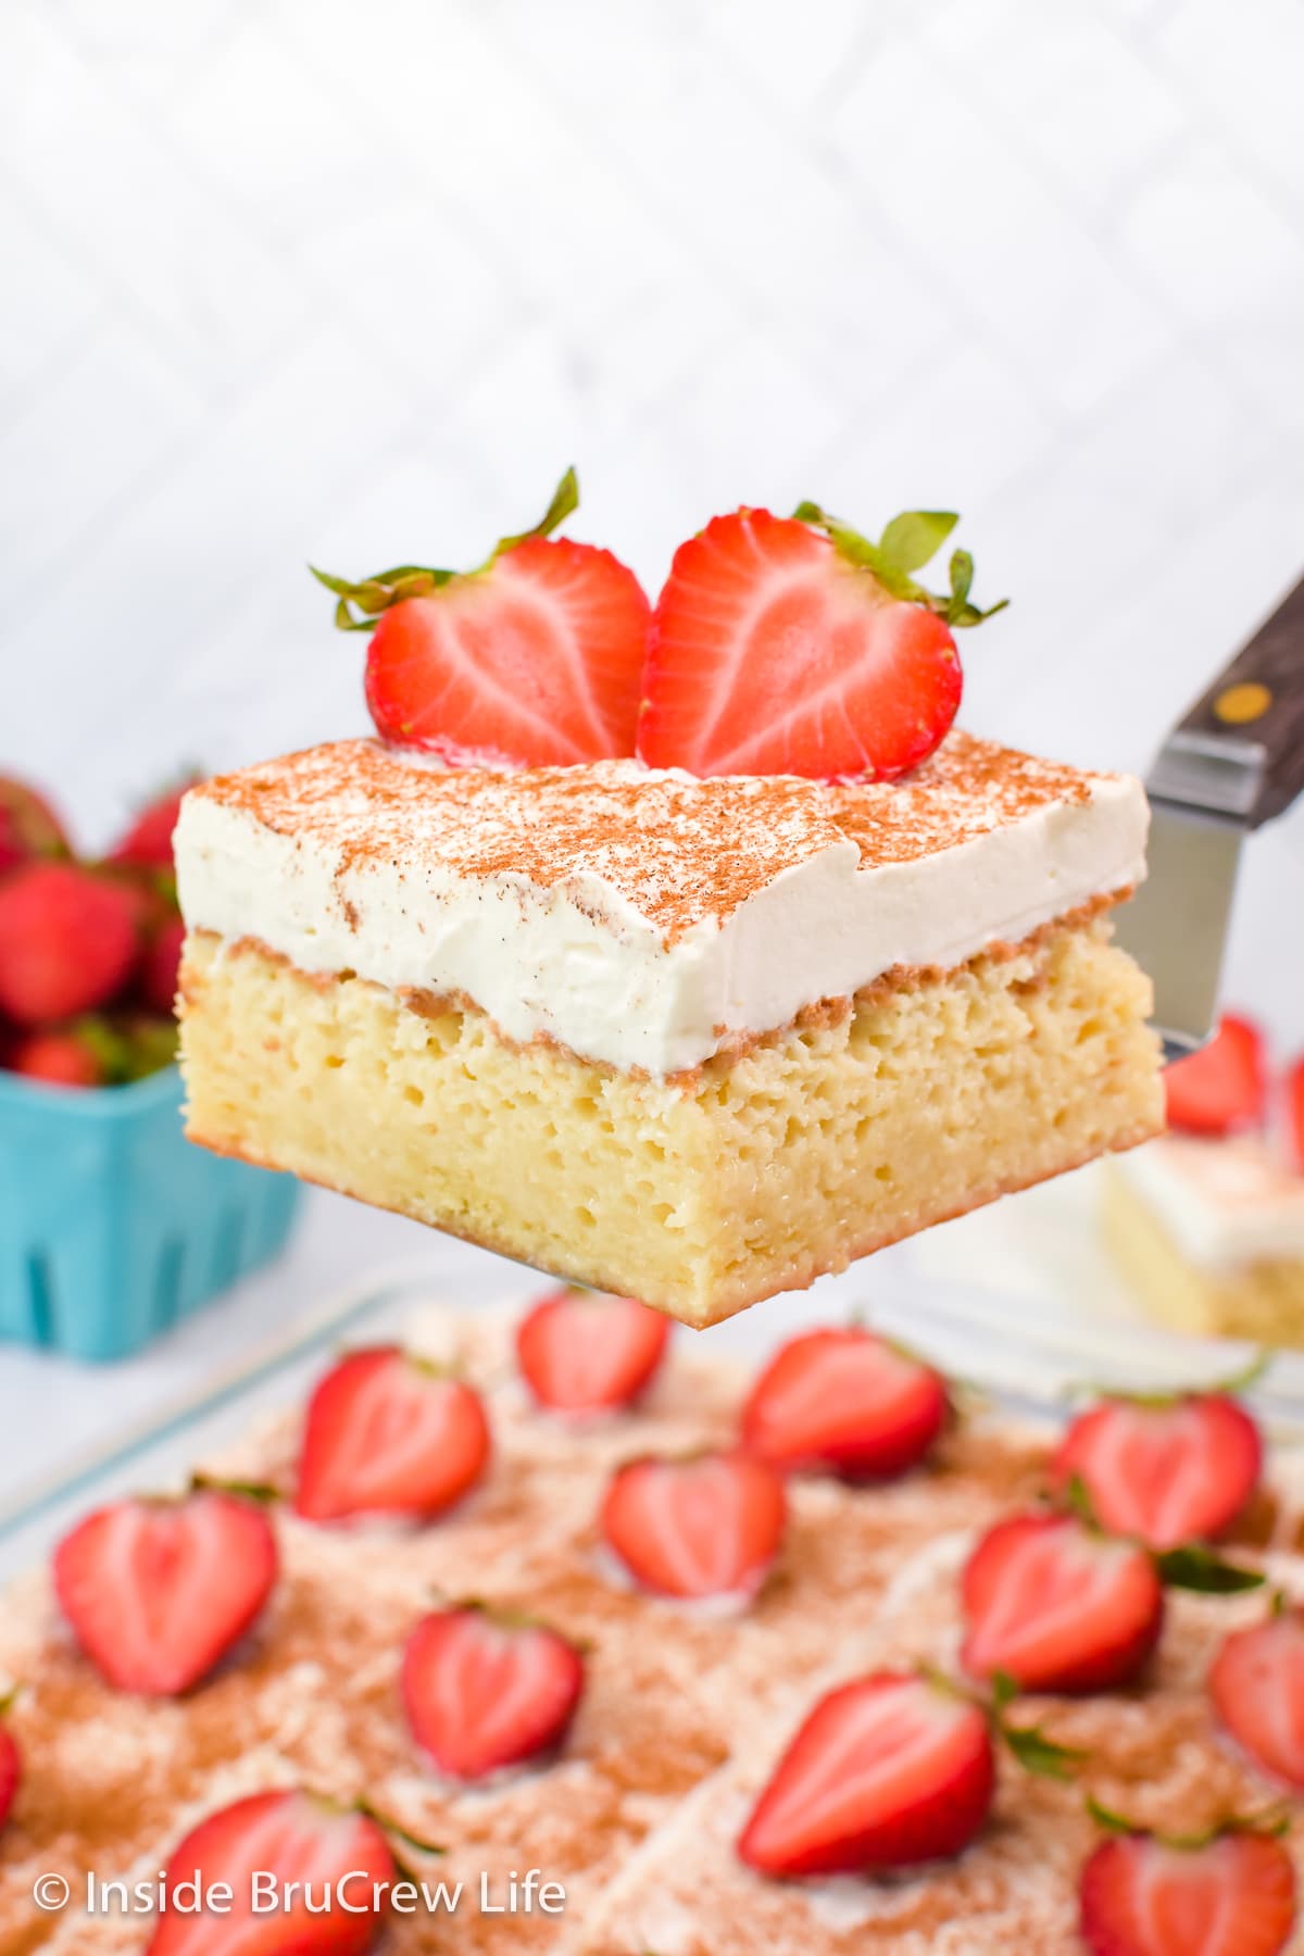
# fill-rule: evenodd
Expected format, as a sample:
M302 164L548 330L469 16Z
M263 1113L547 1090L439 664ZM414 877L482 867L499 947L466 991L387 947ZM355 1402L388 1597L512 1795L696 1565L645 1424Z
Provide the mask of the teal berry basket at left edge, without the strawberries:
M0 1074L0 1340L129 1357L268 1264L297 1199L184 1138L176 1066L90 1089Z

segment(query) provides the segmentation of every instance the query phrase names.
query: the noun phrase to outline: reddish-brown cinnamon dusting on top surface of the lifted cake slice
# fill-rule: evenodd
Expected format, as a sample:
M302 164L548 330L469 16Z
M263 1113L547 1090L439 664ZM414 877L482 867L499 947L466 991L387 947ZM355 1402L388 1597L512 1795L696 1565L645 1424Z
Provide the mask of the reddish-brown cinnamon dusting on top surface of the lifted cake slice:
M328 851L336 872L371 863L465 878L565 886L594 908L600 878L667 943L723 919L788 868L854 843L860 865L913 863L1052 802L1083 804L1107 777L952 730L891 782L590 767L442 769L375 739L309 747L194 788L280 835ZM499 884L497 896L508 896Z

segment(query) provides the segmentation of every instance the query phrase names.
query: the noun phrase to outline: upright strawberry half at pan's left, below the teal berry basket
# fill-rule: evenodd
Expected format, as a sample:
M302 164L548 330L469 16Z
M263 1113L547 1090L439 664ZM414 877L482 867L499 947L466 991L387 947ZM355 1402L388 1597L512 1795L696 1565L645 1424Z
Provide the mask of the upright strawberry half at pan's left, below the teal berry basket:
M276 1582L276 1535L239 1494L119 1500L55 1549L63 1614L106 1682L172 1698L252 1627Z

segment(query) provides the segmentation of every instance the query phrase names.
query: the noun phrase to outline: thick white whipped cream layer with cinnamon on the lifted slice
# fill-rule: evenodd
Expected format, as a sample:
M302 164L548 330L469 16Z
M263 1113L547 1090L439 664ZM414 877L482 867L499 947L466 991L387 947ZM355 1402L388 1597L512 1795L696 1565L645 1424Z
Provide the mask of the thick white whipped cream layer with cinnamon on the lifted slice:
M338 741L194 788L176 863L192 929L667 1076L1130 888L1146 827L1138 780L960 732L850 786L442 771Z

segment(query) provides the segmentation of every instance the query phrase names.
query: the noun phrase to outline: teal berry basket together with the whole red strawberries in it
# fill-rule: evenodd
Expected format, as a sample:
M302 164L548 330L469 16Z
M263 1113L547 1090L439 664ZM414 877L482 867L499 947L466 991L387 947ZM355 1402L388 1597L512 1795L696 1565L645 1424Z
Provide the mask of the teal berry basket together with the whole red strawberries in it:
M291 1181L182 1138L182 794L90 857L0 777L0 1338L121 1357L289 1228Z

